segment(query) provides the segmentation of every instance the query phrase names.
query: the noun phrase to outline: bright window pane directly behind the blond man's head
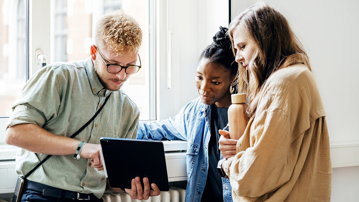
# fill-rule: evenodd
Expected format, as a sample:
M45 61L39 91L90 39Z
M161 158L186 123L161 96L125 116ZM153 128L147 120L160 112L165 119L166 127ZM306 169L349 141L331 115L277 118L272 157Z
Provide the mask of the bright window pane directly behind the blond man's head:
M148 1L148 0L147 0ZM67 4L66 4L67 2ZM123 85L122 90L137 104L140 119L150 119L149 90L149 14L146 0L52 0L51 61L70 62L90 56L90 46L97 19L103 14L122 9L141 25L144 41L140 48L142 68Z

